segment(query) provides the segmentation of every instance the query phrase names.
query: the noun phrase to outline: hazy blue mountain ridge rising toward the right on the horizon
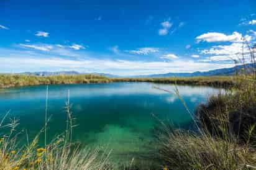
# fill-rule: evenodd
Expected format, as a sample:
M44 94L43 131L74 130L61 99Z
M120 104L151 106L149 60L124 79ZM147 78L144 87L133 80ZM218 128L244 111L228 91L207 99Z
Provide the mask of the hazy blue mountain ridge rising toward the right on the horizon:
M245 65L249 68L252 65ZM150 74L145 76L136 76L137 78L166 78L166 77L193 77L193 76L228 76L244 68L243 65L234 66L232 68L213 69L210 71L196 71L193 73L165 73L165 74Z

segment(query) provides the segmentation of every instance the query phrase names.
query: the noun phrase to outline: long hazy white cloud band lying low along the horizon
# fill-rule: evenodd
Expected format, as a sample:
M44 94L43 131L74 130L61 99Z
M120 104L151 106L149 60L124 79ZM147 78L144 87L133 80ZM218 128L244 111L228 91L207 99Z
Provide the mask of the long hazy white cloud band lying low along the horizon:
M70 69L76 71L89 71L111 73L119 75L138 75L138 74L160 74L208 71L210 69L232 67L232 64L223 63L204 63L193 60L172 60L164 61L129 61L129 60L105 60L96 58L84 58L71 60L60 58L55 55L42 55L38 53L21 53L21 51L7 51L3 55L0 49L0 68L1 71L55 71L58 69ZM8 60L6 60L8 58ZM14 64L15 63L15 64ZM86 66L86 67L85 67Z

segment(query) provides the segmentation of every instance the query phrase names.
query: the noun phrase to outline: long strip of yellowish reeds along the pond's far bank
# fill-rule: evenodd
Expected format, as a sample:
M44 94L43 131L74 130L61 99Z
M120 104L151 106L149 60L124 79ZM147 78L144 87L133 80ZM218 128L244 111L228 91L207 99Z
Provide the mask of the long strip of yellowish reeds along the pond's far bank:
M32 76L22 74L0 74L0 88L35 86L42 84L88 84L111 82L149 82L168 84L188 84L195 86L230 87L234 86L233 76L199 76L190 78L107 78L94 74Z

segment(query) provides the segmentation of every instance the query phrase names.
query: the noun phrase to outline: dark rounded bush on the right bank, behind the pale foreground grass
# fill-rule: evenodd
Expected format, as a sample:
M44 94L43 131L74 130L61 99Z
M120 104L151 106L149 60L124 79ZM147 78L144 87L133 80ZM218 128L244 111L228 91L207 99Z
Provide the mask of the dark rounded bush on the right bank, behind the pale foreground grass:
M247 142L248 132L256 124L256 86L254 81L244 81L226 94L209 98L196 109L196 119L211 135L226 133L237 135L240 142ZM223 134L224 133L224 134ZM256 132L253 130L252 142Z

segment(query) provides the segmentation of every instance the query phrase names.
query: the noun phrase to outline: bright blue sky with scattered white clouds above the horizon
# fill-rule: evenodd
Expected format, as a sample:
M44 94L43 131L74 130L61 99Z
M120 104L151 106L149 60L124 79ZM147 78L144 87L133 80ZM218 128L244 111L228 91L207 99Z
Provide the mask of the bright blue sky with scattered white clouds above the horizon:
M243 42L256 43L254 0L0 1L0 73L208 71Z

